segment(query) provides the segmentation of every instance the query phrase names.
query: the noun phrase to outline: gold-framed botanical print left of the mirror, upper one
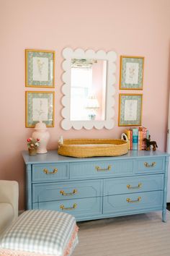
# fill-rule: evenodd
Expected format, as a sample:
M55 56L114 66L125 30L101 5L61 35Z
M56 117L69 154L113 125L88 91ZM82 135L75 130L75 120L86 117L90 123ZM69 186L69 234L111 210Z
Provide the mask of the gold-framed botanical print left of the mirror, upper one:
M25 86L54 88L55 51L25 50Z

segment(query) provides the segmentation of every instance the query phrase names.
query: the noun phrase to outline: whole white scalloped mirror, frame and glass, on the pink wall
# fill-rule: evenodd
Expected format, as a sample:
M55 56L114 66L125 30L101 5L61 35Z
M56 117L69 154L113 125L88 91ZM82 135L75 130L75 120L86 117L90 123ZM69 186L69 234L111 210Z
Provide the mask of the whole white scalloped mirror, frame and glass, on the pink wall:
M116 53L63 50L63 129L114 127Z

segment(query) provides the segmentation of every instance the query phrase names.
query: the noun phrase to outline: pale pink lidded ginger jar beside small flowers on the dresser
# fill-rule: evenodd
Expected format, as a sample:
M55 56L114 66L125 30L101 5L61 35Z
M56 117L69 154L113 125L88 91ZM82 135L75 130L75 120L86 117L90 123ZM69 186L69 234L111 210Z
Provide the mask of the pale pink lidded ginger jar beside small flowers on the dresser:
M48 152L47 145L48 140L50 139L50 134L47 130L45 123L39 121L39 123L35 125L35 132L32 133L32 138L35 140L40 139L40 145L37 148L38 154L45 154Z

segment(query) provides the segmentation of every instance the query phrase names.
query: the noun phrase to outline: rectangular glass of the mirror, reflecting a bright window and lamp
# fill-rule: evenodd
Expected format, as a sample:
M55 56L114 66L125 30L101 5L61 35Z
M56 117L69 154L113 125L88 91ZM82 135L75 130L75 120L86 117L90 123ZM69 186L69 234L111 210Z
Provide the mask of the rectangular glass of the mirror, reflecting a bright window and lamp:
M71 121L105 120L107 61L71 59Z

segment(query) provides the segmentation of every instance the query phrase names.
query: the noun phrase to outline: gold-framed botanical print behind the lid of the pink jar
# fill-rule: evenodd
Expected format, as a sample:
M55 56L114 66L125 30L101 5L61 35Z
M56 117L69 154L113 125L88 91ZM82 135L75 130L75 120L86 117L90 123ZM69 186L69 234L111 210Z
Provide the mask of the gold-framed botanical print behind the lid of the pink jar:
M54 127L54 92L25 92L25 127L35 127L43 121Z

